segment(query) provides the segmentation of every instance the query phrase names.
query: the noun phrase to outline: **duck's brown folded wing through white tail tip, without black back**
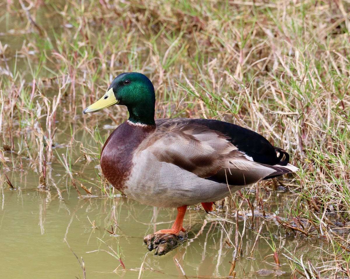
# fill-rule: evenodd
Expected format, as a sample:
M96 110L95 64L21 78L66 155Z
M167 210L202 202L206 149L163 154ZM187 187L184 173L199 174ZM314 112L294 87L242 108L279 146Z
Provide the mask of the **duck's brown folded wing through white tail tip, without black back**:
M160 120L156 125L155 133L141 149L147 148L160 162L175 164L201 178L247 185L296 170L290 164L270 166L254 162L225 135L204 126L179 119Z

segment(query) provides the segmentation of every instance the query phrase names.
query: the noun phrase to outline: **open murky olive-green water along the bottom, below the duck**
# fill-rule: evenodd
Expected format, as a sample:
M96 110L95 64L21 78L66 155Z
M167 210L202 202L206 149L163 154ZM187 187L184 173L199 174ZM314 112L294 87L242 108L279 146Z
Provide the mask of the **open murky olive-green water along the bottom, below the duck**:
M84 175L88 177L89 172L86 171ZM12 176L15 190L1 188L2 278L83 278L78 262L81 257L87 278L116 278L116 273L121 278L138 278L142 265L141 278L183 278L179 266L188 278L228 276L234 248L225 241L235 242L235 216L219 213L218 217L210 216L203 210L191 207L184 222L189 232L188 239L165 256L153 256L153 252L148 252L143 244L143 237L171 226L175 216L173 209L140 205L125 197L78 198L72 187L66 188L66 179L62 176L57 178L61 180L56 186L62 190L62 199L55 189L43 192L33 187L37 181L36 174L31 171L23 176L20 173ZM96 221L97 228L92 227L89 219ZM114 220L118 226L115 226ZM259 226L261 221L255 219L255 226ZM243 223L240 218L240 233ZM275 266L271 256L263 261L272 253L267 243L271 243L271 240L260 238L253 259L247 259L257 232L256 228L248 227L249 223L243 238L243 255L236 265L237 278L245 275L260 278L266 274L290 278L290 267L285 260L280 267ZM283 229L273 224L264 226L262 236L272 237L276 245L281 242L284 253L284 249L294 251L297 248L297 253L308 252L309 257L311 250L315 258L320 255L321 248L312 247L320 244L317 239L281 236ZM105 230L111 230L111 226L118 236L112 236ZM119 266L118 258L112 256L115 254L111 248L116 256L120 256L126 270ZM117 271L114 272L115 269Z

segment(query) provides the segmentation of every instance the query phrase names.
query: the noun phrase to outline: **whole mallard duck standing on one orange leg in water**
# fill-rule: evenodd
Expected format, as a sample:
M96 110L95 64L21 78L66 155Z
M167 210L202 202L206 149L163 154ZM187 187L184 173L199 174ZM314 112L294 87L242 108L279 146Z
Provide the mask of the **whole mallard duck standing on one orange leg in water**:
M84 114L125 105L129 119L113 131L101 152L105 178L140 203L177 208L171 229L179 235L187 206L212 210L244 185L295 172L288 153L263 136L235 124L210 119L154 120L152 82L141 73L116 77Z

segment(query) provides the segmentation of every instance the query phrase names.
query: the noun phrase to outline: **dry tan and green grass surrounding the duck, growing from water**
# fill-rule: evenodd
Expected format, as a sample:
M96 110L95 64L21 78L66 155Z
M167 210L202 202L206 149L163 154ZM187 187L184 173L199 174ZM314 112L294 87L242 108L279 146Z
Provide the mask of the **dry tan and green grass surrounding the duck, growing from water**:
M82 109L119 73L142 72L155 86L157 118L238 124L285 148L300 169L217 204L208 220L236 223L233 231L222 225L233 257L221 276L243 277L240 259L253 258L264 241L274 272L288 264L293 278L350 278L349 1L9 0L0 7L2 192L31 171L31 188L62 198L59 172L82 198L119 197L101 175L99 154L127 111L84 116ZM290 237L318 240L321 255L284 248ZM120 251L112 254L124 267Z

